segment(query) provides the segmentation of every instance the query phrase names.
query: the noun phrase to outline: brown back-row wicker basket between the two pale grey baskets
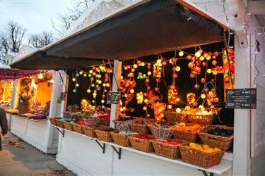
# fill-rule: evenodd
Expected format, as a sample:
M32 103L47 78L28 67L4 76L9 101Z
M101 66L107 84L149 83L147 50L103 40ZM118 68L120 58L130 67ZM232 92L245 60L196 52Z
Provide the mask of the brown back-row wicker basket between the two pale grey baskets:
M147 125L153 121L153 119L149 118L138 118L131 122L131 129L134 132L138 132L139 134L151 134L151 131L149 130Z

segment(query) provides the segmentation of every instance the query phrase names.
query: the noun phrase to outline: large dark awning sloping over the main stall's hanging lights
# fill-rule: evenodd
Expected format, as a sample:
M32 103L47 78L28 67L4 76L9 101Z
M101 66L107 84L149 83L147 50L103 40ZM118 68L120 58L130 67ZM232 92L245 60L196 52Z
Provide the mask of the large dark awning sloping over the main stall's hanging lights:
M155 0L119 11L11 67L66 68L62 63L73 59L75 64L70 64L71 68L81 68L101 59L139 58L222 39L223 27L215 21L184 8L177 1Z

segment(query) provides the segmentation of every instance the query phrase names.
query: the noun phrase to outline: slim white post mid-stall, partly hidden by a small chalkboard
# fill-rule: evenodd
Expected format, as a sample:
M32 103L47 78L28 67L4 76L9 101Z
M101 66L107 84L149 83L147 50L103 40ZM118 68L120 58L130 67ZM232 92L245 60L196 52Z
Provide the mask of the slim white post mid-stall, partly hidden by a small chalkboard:
M119 92L120 77L122 75L122 61L114 61L112 92ZM113 120L118 118L119 104L112 104L110 110L110 127L114 127Z

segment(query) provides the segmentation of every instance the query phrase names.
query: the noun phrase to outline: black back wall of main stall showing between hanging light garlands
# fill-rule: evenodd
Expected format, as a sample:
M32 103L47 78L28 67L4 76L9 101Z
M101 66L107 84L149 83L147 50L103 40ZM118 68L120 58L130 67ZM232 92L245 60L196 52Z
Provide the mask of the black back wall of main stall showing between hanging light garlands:
M170 41L169 41L170 42ZM201 49L203 49L206 52L221 52L222 49L224 48L224 43L223 42L219 42L216 44L208 44L208 45L204 45L201 46ZM197 47L196 50L198 50L199 48ZM195 48L189 48L189 49L183 49L183 51L189 53L189 54L194 54L195 53ZM177 51L178 54L178 51ZM167 52L167 53L163 53L161 54L163 56L163 58L165 58L166 60L169 60L170 58L175 56L175 51L171 51L171 52ZM186 55L184 55L186 56ZM156 59L158 58L158 55L152 55L152 56L143 56L141 58L137 58L140 61L146 62L146 63L152 63L155 62ZM179 56L177 55L177 58L179 58ZM211 61L211 60L210 60ZM208 65L211 65L210 61L208 61ZM222 59L222 54L219 54L219 56L216 58L217 61L217 65L223 65L223 59ZM123 61L123 65L132 65L134 64L134 59L131 60L127 60L127 61ZM177 62L177 65L180 66L181 70L177 73L178 77L176 79L176 85L178 88L178 92L179 92L179 99L181 101L187 102L187 92L194 92L196 94L196 98L198 98L201 95L201 90L204 88L204 84L202 84L200 82L201 78L204 77L204 73L206 71L205 67L201 67L201 75L197 75L197 80L198 83L200 84L200 88L199 89L194 89L194 84L196 83L195 78L191 78L190 75L190 68L188 68L188 63L189 61L187 59L182 59L179 60ZM211 66L210 66L211 68ZM83 70L90 70L90 68L84 68ZM152 70L152 68L151 68ZM136 68L135 71L135 80L136 80L136 87L134 87L135 90L135 94L136 92L146 92L146 84L144 83L145 79L143 80L138 80L137 76L138 73L147 73L148 69L145 67L138 67ZM77 80L78 83L80 84L80 86L77 88L77 92L73 93L73 89L75 87L75 82L72 82L71 79L72 77L75 77L76 75L76 70L68 70L69 73L69 95L68 95L68 99L67 99L67 104L74 104L77 103L80 105L81 99L93 99L92 93L88 94L87 93L87 89L89 87L90 83L90 79L89 77L83 77L82 75L80 75ZM124 76L124 78L126 78L126 75L129 73L129 70L124 70L124 68L122 69L122 75ZM156 82L155 82L155 78L153 78L153 76L150 77L150 86L151 89L154 89L156 87ZM214 78L214 75L212 74L207 74L207 80L206 82L210 82L211 79ZM170 84L172 84L172 65L170 65L169 63L167 63L167 65L164 66L164 76L162 79L162 82L160 82L160 84L158 85L158 87L160 88L160 92L163 94L163 102L167 103L167 87L170 86ZM212 88L211 86L208 86L209 88ZM224 99L224 93L223 93L223 73L220 73L218 75L216 75L216 92L218 94L218 98L220 99L220 101L223 101ZM98 92L98 96L96 99L96 102L98 102L98 105L101 105L100 101L101 101L101 95L102 95L102 90L100 92ZM136 97L135 97L136 98ZM124 99L124 98L123 98ZM199 101L199 104L201 103L201 101ZM105 106L110 107L110 105L105 104ZM142 107L144 106L144 104L136 104L136 112L139 112L139 115L143 115L144 112L142 111ZM184 103L179 103L177 105L177 107L184 107ZM220 120L225 122L226 125L233 125L233 120L234 120L234 115L233 115L234 111L231 109L225 109L225 111L222 111L222 113L220 114ZM219 120L216 121L216 123L220 123Z

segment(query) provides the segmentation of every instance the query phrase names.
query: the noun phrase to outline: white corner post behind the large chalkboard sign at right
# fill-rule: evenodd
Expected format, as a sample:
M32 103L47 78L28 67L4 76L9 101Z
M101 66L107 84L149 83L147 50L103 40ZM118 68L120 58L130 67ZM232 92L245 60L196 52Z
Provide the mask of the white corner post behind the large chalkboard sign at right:
M240 48L235 35L235 88L251 87L249 49ZM250 119L251 110L235 109L234 150L232 175L250 175Z

